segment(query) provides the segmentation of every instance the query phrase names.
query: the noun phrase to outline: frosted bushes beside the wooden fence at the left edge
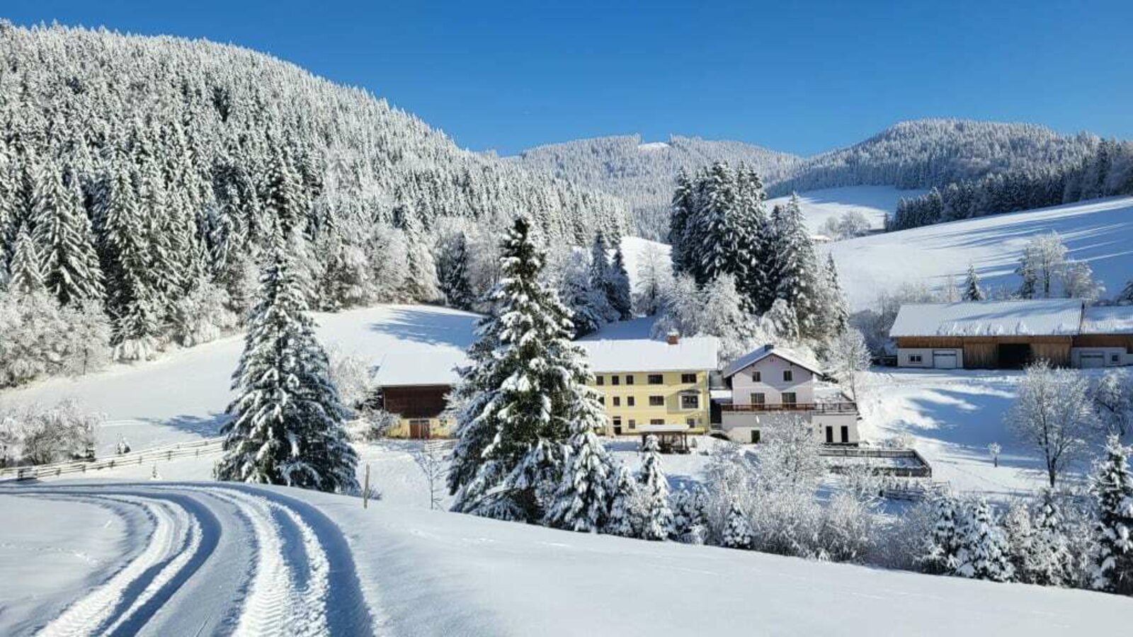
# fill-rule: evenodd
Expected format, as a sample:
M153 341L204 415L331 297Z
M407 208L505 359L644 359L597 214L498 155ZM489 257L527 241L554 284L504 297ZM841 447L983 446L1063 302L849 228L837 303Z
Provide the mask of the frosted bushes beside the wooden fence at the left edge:
M31 406L0 417L5 464L43 465L93 455L104 417L63 400L52 407Z

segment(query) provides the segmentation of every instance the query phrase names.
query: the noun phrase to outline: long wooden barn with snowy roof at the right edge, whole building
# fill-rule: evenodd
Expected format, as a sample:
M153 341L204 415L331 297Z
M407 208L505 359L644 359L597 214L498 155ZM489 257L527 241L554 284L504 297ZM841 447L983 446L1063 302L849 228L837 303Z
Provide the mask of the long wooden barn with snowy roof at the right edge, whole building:
M1133 308L1085 307L1079 299L1029 299L901 306L889 330L897 366L1019 368L1038 359L1059 367L1133 364Z

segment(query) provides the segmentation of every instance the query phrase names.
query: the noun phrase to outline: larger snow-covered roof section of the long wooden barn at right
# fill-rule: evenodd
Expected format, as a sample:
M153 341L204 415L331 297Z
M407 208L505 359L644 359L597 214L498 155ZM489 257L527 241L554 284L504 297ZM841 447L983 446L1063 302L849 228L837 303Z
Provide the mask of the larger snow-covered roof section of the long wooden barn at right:
M889 337L1073 336L1080 299L981 300L902 305Z

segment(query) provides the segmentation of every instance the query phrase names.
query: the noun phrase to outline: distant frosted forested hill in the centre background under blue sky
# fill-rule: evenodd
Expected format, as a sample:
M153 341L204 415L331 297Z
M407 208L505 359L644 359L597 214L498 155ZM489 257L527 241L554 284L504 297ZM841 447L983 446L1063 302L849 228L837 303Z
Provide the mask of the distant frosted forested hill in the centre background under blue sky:
M800 158L744 144L670 136L668 142L641 143L639 135L578 139L523 151L513 161L560 179L600 189L633 210L637 233L664 239L668 204L680 170L693 172L714 162L753 168L764 181L792 173Z

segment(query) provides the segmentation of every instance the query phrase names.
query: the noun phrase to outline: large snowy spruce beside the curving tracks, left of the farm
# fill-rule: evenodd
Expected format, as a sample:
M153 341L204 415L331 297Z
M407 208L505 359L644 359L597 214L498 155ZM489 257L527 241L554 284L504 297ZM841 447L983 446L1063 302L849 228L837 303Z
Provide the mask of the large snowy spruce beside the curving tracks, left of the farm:
M357 491L358 457L347 439L346 408L307 315L306 292L276 230L261 278L259 304L233 374L218 479Z

